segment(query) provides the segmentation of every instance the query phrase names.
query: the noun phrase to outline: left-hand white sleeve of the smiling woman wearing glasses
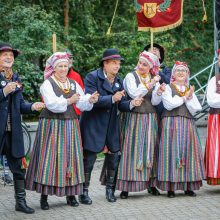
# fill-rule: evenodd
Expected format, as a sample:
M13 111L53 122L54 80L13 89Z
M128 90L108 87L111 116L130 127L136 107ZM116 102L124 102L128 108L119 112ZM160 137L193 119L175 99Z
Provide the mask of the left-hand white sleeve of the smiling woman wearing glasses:
M162 101L163 101L164 107L168 111L171 111L174 108L177 108L184 103L182 97L179 97L177 95L172 97L172 90L169 85L166 85L166 90L162 93Z

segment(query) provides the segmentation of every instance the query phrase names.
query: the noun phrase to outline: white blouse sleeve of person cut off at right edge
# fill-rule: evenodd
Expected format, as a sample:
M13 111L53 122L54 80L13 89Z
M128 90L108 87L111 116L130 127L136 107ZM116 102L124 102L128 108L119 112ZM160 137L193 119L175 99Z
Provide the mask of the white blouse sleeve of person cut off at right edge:
M216 77L212 77L207 87L207 102L212 108L220 108L220 94L216 93Z

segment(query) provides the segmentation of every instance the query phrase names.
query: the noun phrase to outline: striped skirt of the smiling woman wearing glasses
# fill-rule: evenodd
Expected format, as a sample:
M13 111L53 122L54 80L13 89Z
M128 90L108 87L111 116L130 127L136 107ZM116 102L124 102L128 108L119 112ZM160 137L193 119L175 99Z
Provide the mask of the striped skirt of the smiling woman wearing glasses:
M193 119L164 117L159 145L158 188L196 190L202 186L204 164Z

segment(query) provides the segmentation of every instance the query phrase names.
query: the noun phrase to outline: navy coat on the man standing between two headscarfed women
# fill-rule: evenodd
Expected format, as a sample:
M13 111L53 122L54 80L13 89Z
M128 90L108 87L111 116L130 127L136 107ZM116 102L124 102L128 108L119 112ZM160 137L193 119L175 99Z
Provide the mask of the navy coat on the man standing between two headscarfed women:
M89 73L85 78L85 93L98 91L99 100L89 112L83 112L80 119L83 149L101 152L105 145L111 152L120 149L119 110L130 111L130 101L123 98L112 104L112 96L123 90L122 80L115 78L111 87L102 68Z

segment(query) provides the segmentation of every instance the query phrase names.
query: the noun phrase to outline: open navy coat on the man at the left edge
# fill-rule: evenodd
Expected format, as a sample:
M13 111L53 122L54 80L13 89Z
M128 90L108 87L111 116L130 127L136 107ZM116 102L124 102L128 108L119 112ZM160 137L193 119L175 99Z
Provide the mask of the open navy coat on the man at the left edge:
M17 74L13 74L13 82L19 82L20 79ZM4 96L3 88L6 86L6 80L0 73L0 154L4 145L4 134L7 125L7 117L9 111L9 96L11 98L11 115L12 115L12 140L11 140L11 154L15 158L24 156L24 141L21 127L21 114L31 113L32 103L26 103L22 96L22 89L16 88L15 92Z

